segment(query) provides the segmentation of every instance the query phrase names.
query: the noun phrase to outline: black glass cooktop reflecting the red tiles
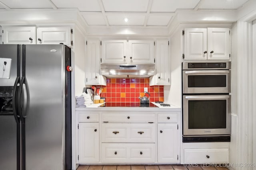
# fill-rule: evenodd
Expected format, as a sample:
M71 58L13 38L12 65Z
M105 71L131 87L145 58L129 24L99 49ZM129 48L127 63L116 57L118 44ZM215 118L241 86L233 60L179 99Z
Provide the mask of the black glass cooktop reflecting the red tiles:
M125 102L106 102L104 107L158 107L152 103L141 104L141 103L125 103Z

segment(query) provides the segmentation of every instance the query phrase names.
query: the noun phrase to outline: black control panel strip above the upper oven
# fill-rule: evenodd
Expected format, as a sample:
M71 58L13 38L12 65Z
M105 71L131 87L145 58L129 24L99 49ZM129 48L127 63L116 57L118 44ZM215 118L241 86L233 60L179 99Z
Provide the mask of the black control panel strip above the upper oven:
M188 68L226 68L226 63L188 63Z

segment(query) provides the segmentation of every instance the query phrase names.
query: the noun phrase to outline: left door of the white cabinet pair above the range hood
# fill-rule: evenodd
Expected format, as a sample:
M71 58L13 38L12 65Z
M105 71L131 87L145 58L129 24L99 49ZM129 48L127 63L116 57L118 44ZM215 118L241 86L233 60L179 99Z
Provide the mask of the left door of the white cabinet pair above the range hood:
M127 63L126 40L102 40L102 63Z

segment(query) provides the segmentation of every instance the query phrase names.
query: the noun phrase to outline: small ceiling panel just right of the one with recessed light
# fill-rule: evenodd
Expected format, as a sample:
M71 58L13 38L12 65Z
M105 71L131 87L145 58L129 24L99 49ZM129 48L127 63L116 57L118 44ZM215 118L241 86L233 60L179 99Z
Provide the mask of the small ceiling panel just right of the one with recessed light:
M147 25L164 25L167 26L172 16L150 15Z

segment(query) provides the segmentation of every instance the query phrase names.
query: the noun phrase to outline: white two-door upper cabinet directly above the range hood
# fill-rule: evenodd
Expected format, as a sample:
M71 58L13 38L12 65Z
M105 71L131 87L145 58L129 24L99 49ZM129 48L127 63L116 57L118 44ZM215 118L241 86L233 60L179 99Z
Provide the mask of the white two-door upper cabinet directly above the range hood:
M154 41L129 40L127 45L126 40L102 40L101 62L109 64L154 63Z

